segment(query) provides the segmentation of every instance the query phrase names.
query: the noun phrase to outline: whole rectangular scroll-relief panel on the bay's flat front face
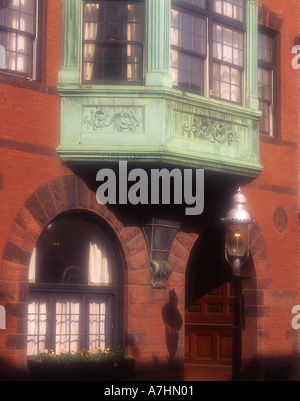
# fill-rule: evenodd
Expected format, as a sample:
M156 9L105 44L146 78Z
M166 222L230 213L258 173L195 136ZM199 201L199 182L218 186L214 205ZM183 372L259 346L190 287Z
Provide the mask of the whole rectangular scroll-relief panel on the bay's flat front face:
M142 132L142 108L87 107L83 115L83 130Z

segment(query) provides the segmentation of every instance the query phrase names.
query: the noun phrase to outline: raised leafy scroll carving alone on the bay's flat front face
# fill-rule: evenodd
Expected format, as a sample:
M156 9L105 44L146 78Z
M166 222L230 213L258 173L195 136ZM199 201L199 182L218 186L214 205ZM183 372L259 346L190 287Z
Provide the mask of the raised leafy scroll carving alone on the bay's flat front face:
M99 107L90 110L83 118L83 123L90 125L94 131L112 127L116 131L125 132L137 131L142 125L142 119L133 108L116 111Z

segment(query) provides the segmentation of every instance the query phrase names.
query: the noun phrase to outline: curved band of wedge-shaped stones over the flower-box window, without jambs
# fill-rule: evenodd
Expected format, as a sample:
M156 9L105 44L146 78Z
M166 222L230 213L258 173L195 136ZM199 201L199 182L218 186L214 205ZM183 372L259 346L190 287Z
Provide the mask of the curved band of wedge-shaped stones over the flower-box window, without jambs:
M31 254L42 230L60 213L75 209L94 213L110 226L119 239L126 270L142 270L149 266L141 229L124 227L106 205L97 202L95 193L81 178L68 174L43 183L27 198L16 215L3 252L2 275L7 277L7 281L27 281ZM144 274L148 282L146 276Z

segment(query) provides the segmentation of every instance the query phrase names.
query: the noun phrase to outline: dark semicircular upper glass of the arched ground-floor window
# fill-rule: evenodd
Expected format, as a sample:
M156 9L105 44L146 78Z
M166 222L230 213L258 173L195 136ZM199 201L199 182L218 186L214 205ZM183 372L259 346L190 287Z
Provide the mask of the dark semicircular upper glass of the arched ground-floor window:
M105 257L108 264L107 278L99 284L116 282L115 255L100 227L78 216L57 218L37 241L35 282L89 284L94 246L101 250L101 261Z

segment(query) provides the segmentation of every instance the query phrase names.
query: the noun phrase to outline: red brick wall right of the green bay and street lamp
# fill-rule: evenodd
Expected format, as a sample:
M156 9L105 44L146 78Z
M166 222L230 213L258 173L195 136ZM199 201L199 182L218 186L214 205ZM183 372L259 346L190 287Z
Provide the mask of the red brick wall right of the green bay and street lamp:
M261 175L244 189L248 207L259 224L265 238L271 268L271 280L258 279L258 288L264 290L265 313L259 318L259 330L263 335L258 343L262 359L293 355L298 333L291 327L291 309L299 302L298 252L298 167L299 153L299 70L291 66L294 38L299 33L299 2L287 5L280 0L264 0L270 11L283 19L279 41L279 114L278 139L261 136ZM275 229L273 214L276 208L284 208L287 226L284 232ZM267 362L266 362L267 363Z

